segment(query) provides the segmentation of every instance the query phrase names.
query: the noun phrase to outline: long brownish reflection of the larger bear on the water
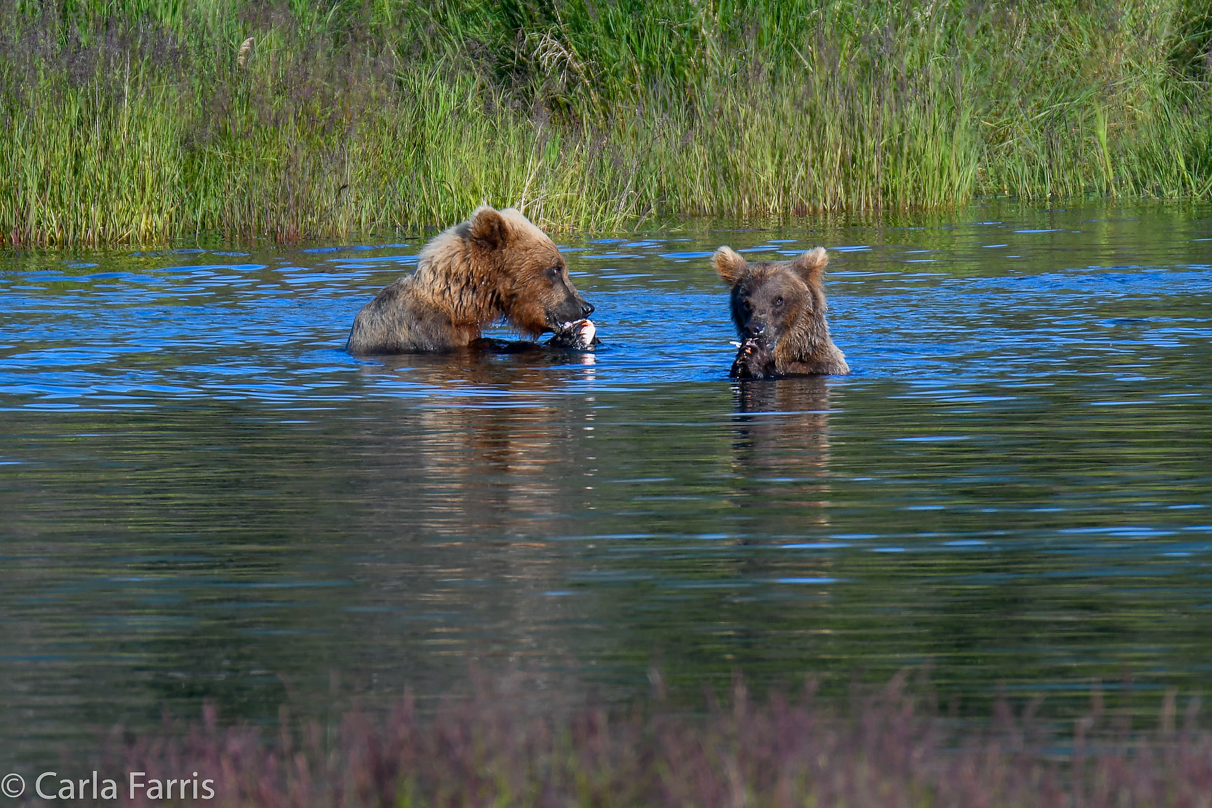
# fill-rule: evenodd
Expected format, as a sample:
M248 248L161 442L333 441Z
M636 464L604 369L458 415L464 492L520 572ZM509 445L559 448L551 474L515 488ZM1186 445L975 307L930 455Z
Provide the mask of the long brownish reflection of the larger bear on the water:
M528 665L574 655L589 603L553 597L581 562L564 537L593 532L599 417L593 354L408 354L361 367L373 388L358 426L355 533L375 538L362 608L393 632L413 677L465 677L469 660ZM578 388L582 388L578 390ZM562 670L562 669L561 669ZM560 681L576 692L576 670Z

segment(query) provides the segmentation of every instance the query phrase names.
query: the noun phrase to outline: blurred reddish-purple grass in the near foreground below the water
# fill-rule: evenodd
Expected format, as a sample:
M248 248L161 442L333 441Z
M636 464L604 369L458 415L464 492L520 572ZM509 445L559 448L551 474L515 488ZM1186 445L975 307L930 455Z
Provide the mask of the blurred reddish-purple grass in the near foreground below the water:
M811 693L754 701L738 682L697 717L561 704L533 686L481 681L431 717L406 699L339 727L284 720L268 744L218 727L208 710L202 727L114 744L93 768L145 772L144 783L185 772L218 806L1099 808L1200 804L1212 785L1212 738L1183 728L1172 694L1156 729L1133 732L1096 690L1090 712L1057 734L1037 701L1000 701L984 722L944 720L899 676L882 692L856 688L848 710Z

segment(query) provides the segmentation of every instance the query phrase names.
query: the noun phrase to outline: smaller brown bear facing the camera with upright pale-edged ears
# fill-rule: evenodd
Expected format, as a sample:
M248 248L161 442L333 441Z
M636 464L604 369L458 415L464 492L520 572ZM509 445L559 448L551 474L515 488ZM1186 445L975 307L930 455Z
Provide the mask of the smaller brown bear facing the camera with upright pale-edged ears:
M753 265L720 247L711 263L732 287L732 321L742 339L732 378L850 373L825 322L824 247Z

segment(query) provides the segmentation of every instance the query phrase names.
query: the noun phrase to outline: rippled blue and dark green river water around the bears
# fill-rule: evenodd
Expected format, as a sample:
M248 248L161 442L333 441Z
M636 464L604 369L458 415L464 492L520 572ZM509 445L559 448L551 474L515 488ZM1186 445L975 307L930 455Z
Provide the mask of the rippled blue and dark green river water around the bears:
M0 254L0 764L473 666L1207 681L1212 208L560 236L596 355L353 359L398 241ZM830 248L852 376L727 379L721 243Z

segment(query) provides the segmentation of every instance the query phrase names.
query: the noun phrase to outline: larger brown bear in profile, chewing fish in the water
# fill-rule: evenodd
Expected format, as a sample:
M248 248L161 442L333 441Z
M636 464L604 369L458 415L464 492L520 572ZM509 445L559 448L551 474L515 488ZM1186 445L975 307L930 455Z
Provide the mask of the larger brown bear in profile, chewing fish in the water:
M480 329L494 322L532 338L559 334L593 310L542 230L513 208L485 206L425 245L415 273L362 306L345 350L456 350L480 340Z

